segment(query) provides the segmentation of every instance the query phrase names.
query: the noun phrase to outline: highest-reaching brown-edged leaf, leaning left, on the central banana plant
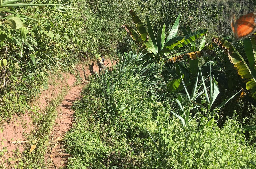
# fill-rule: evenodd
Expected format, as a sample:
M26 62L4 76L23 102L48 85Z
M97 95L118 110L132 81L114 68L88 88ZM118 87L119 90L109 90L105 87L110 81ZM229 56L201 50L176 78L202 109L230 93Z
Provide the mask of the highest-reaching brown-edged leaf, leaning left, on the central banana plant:
M140 37L143 41L148 40L148 33L144 26L144 24L141 22L140 18L136 15L136 13L133 10L130 10L130 14L132 15L132 20L135 23L135 26L137 28L137 31L140 34Z

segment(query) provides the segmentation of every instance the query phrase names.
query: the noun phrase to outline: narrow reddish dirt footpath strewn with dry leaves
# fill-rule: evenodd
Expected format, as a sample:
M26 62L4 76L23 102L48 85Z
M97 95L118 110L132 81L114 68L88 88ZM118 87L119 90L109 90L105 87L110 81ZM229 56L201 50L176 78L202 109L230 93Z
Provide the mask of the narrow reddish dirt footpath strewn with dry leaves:
M49 168L64 167L67 163L69 154L66 154L65 149L62 148L62 138L72 127L74 113L71 110L72 102L80 98L80 92L84 86L85 83L72 87L61 105L57 108L58 116L53 126L51 140L49 141L51 147L48 148L45 155L46 161L50 160L52 162Z

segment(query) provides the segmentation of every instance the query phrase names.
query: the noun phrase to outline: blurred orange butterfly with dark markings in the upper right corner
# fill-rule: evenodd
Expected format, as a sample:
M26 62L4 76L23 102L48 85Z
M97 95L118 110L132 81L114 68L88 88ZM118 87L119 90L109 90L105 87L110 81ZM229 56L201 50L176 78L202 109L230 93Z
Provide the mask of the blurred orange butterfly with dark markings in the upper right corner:
M252 35L256 30L256 13L253 12L243 15L238 20L236 20L236 16L233 15L230 22L235 38L247 38Z

